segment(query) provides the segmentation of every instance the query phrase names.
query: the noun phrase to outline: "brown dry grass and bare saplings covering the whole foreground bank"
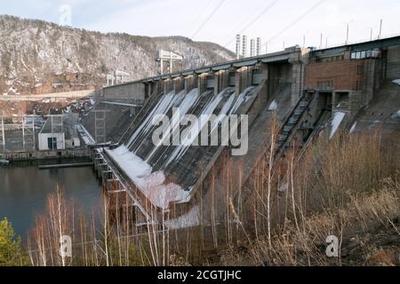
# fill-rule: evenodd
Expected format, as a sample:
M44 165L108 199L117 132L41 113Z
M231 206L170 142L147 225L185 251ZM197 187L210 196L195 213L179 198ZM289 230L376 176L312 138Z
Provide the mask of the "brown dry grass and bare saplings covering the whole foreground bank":
M150 212L140 231L127 198L107 198L102 226L49 198L29 238L33 265L398 265L400 150L379 133L321 137L300 160L295 148L270 167L271 151L244 190L229 159L204 185L202 224L169 230L170 214ZM220 180L216 177L220 176ZM60 232L73 236L74 257L58 254ZM340 257L325 255L326 237L340 239Z

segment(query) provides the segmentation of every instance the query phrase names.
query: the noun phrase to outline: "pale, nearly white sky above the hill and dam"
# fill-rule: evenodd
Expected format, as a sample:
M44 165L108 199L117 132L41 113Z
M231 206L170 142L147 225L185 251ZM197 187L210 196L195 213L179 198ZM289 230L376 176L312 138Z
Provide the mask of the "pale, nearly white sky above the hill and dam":
M0 14L27 19L65 20L100 32L140 36L188 36L234 50L237 33L260 36L268 51L303 44L323 46L400 34L400 0L1 0ZM65 11L65 10L64 10ZM264 45L263 51L266 46Z

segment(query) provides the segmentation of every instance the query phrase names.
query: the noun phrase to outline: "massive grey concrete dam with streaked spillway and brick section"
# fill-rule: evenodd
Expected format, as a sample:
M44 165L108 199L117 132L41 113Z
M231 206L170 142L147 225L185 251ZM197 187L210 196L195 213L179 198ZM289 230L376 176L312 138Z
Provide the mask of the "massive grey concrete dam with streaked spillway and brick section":
M97 113L83 126L92 134L96 169L108 191L129 194L138 224L156 212L160 219L173 213L172 227L192 226L201 222L200 210L214 206L208 202L210 188L223 188L224 167L236 172L229 185L235 200L272 141L278 161L289 146L302 153L322 131L329 138L340 130L400 131L398 79L400 37L325 50L295 46L104 88L96 111L105 114L100 119L105 133L99 135ZM159 114L168 117L170 134L155 145L153 122ZM186 114L217 119L188 126L180 144L166 143ZM210 140L229 114L248 115L248 133L241 133L248 136L247 154L233 155L232 146L220 143L193 145L200 130L206 129ZM277 135L271 131L275 122Z

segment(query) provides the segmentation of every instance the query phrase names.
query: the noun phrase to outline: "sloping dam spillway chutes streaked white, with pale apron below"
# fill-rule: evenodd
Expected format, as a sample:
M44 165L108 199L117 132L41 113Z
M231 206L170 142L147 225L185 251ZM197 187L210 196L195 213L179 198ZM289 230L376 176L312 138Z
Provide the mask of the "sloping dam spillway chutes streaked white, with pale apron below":
M219 148L197 146L194 142L200 140L201 130L205 128L210 136L212 131L219 129L226 114L240 113L241 107L252 98L253 91L254 87L238 95L234 88L227 88L218 95L213 91L200 94L198 89L188 94L184 91L164 94L156 102L148 104L146 113L136 120L120 146L107 149L106 153L158 208L168 209L171 202L188 201L201 165L209 162ZM153 122L157 114L168 116L170 125L165 132L168 134L155 145L153 134L159 125ZM195 115L198 125L185 124L186 114ZM207 119L212 114L217 119L209 123ZM179 136L180 143L173 144L174 134L180 133L184 133Z

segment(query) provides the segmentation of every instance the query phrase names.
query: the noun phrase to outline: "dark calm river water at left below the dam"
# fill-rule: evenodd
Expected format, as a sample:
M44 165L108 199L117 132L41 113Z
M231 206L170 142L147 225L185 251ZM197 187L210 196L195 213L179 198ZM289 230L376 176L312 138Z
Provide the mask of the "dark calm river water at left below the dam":
M12 164L0 166L0 219L7 217L24 238L36 214L44 213L47 196L57 191L57 184L67 200L74 200L76 211L82 209L86 217L99 211L101 186L92 168L38 170L35 163Z

